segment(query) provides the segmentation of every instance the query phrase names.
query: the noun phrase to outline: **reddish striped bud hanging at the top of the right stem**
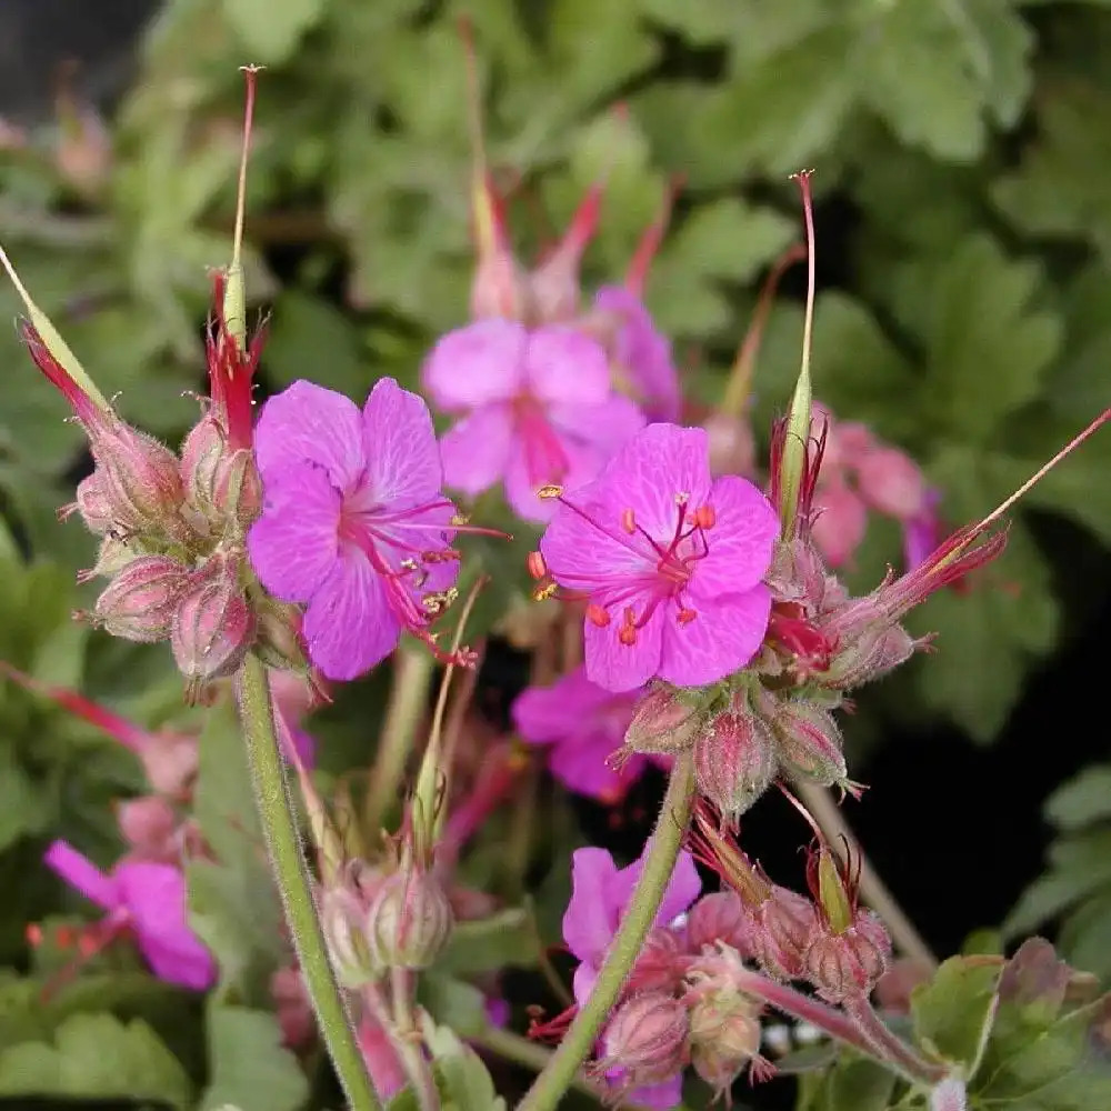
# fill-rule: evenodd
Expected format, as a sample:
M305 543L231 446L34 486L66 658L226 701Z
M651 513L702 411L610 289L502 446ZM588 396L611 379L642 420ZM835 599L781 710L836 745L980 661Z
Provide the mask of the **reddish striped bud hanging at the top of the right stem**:
M701 794L735 821L775 778L775 744L768 724L741 700L715 714L694 741L694 777Z

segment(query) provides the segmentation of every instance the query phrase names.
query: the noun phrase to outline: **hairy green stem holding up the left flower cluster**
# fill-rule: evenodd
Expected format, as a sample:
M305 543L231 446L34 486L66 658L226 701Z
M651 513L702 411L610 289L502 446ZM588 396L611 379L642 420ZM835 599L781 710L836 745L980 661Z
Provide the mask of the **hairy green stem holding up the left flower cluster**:
M247 658L239 675L239 710L270 864L317 1023L350 1111L381 1111L328 960L312 898L312 881L301 852L301 838L278 750L266 668L253 655Z

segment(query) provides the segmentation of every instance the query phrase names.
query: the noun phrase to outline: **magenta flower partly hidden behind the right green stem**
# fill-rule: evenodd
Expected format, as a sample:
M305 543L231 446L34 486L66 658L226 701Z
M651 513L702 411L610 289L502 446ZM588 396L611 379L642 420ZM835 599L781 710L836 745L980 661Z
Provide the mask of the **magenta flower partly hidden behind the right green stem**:
M604 849L577 849L571 854L571 899L563 914L563 940L581 962L574 970L574 999L581 1007L594 987L598 970L617 932L642 860L619 869ZM653 925L667 925L698 898L702 881L694 860L680 852Z

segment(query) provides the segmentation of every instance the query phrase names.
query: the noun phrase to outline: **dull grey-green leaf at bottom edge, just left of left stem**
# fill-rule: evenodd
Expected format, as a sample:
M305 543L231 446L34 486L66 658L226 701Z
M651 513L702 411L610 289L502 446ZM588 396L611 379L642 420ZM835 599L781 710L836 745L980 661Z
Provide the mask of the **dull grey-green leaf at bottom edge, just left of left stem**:
M309 1084L297 1058L281 1045L273 1014L211 1002L208 1009L212 1079L200 1111L236 1103L242 1111L297 1111Z

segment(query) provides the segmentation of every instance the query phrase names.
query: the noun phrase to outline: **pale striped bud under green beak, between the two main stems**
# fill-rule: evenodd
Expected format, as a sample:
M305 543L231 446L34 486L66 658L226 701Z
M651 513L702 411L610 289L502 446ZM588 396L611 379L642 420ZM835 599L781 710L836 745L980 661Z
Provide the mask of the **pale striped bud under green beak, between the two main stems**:
M383 968L428 968L451 937L454 915L440 881L421 869L394 872L367 912L368 932Z

